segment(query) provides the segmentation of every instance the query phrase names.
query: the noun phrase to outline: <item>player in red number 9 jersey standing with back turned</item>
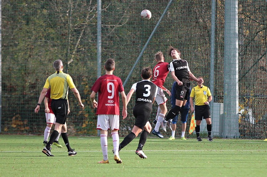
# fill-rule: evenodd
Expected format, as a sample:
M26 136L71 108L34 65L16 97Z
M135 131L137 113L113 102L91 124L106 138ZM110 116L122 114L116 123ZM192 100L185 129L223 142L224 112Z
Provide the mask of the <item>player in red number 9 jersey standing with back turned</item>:
M122 81L119 77L113 75L115 69L115 61L111 58L107 59L104 68L106 74L99 77L92 86L92 94L90 99L93 108L97 108L97 129L100 130L100 144L103 153L103 160L97 162L100 164L108 164L107 157L107 130L111 129L113 139L114 160L122 163L119 154L119 92L123 102L123 119L127 116L126 95ZM98 92L98 102L95 100L95 95Z

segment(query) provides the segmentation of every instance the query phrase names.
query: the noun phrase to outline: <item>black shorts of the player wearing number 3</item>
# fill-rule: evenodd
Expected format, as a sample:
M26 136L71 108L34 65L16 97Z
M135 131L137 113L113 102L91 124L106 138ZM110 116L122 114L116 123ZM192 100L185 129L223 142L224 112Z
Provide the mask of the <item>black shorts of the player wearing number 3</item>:
M143 110L133 110L133 114L135 117L134 125L144 130L144 126L150 117L150 113Z

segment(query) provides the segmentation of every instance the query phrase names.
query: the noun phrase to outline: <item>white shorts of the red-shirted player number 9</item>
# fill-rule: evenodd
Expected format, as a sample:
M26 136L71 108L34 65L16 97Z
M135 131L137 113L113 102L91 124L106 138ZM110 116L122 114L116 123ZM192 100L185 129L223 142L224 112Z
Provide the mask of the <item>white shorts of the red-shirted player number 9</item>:
M100 114L97 116L98 130L119 130L120 116L113 114Z

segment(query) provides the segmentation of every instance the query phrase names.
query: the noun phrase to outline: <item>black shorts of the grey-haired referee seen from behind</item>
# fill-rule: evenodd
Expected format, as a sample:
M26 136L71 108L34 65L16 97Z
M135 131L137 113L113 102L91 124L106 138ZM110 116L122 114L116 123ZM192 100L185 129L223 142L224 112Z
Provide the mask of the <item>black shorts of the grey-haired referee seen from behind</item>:
M52 111L56 117L56 123L65 124L68 114L68 102L66 99L52 99Z

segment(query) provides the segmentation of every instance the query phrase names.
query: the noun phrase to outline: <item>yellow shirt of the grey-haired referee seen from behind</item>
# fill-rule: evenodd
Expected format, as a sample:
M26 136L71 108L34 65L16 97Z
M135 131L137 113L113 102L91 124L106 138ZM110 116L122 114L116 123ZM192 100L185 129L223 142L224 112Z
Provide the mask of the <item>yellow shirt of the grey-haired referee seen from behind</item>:
M44 88L51 88L50 98L51 99L68 99L68 92L74 88L75 85L69 74L65 74L62 71L56 71L54 74L49 76L44 84Z

